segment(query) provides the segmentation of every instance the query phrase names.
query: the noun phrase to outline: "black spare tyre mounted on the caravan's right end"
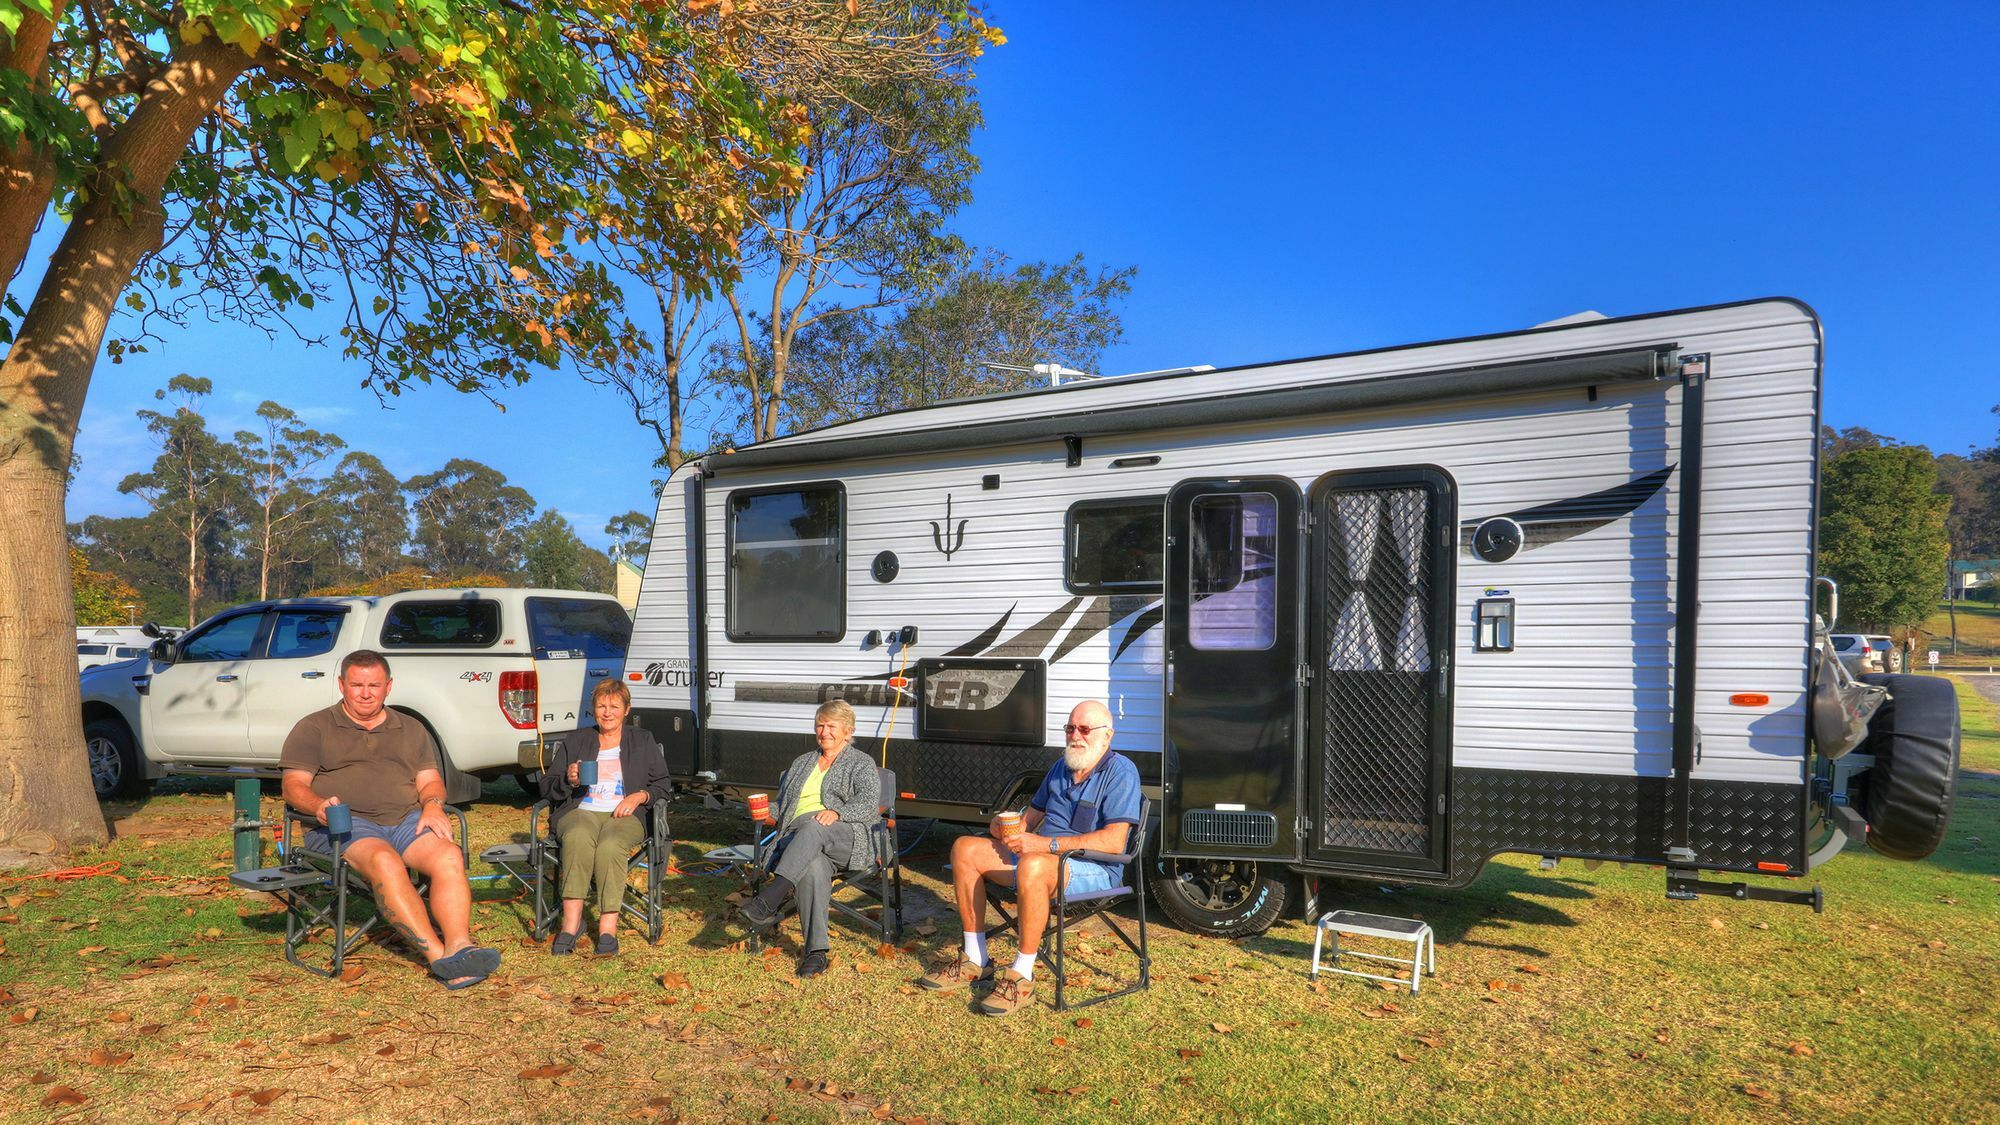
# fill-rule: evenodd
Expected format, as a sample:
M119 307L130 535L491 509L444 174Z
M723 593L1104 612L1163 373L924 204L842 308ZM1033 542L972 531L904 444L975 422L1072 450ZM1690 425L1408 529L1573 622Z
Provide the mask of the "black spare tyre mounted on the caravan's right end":
M1944 843L1958 783L1958 695L1944 677L1870 673L1888 703L1868 723L1868 847L1890 859L1924 859Z

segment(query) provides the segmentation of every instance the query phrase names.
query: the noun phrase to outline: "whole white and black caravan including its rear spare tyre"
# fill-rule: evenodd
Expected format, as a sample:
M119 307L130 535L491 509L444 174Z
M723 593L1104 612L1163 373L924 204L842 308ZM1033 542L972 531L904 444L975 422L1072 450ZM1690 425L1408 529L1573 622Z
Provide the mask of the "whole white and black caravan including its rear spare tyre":
M1218 935L1500 853L1818 907L1798 879L1846 839L1938 845L1958 753L1944 681L1856 683L1816 625L1820 370L1772 298L710 454L660 498L636 719L748 791L846 699L906 817L984 823L1102 699L1154 897Z

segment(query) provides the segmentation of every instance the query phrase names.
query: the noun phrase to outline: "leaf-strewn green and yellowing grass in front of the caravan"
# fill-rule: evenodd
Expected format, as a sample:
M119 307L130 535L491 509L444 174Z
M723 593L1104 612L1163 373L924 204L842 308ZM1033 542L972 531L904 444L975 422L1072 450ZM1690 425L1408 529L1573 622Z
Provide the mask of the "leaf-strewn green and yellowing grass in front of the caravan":
M732 885L714 877L676 881L666 939L628 933L616 959L550 959L524 941L514 893L482 885L474 921L508 957L488 985L444 993L394 945L364 947L352 983L320 981L280 959L278 915L222 883L226 797L162 795L108 809L120 837L78 857L114 875L0 877L0 1019L34 1009L0 1023L0 1113L60 1113L42 1105L60 1085L88 1099L68 1113L114 1119L244 1115L280 1091L270 1113L322 1121L822 1121L882 1099L886 1117L928 1121L1990 1121L2000 723L1960 699L1946 845L1914 865L1850 849L1816 873L1824 915L1672 903L1654 869L1506 857L1466 891L1352 899L1438 929L1420 997L1310 987L1296 921L1240 943L1156 927L1150 993L1066 1015L1044 995L1006 1021L910 987L920 955L956 941L948 915L886 959L836 923L834 971L800 985L790 941L766 957L732 945ZM520 823L480 805L474 843ZM740 821L682 805L674 825L692 861ZM912 857L914 903L938 907L946 843L934 829ZM546 1065L572 1069L520 1077Z

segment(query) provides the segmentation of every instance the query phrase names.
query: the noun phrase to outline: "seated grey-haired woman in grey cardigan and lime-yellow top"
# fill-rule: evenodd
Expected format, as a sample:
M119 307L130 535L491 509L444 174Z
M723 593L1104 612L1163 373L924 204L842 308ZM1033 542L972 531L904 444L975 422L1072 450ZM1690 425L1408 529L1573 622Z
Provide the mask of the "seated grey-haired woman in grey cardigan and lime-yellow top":
M866 867L874 857L868 835L882 821L882 775L854 749L854 709L836 699L812 715L818 751L798 755L778 785L778 867L770 883L742 905L746 923L772 929L784 901L798 895L798 921L806 931L800 977L826 971L826 903L834 869Z

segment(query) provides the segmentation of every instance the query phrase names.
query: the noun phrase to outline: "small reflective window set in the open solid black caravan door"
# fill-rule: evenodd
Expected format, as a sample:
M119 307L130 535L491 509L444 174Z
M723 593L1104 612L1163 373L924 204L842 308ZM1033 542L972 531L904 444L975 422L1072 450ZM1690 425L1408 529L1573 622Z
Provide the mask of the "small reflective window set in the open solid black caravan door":
M1188 641L1270 649L1278 641L1278 498L1196 496L1188 508Z

